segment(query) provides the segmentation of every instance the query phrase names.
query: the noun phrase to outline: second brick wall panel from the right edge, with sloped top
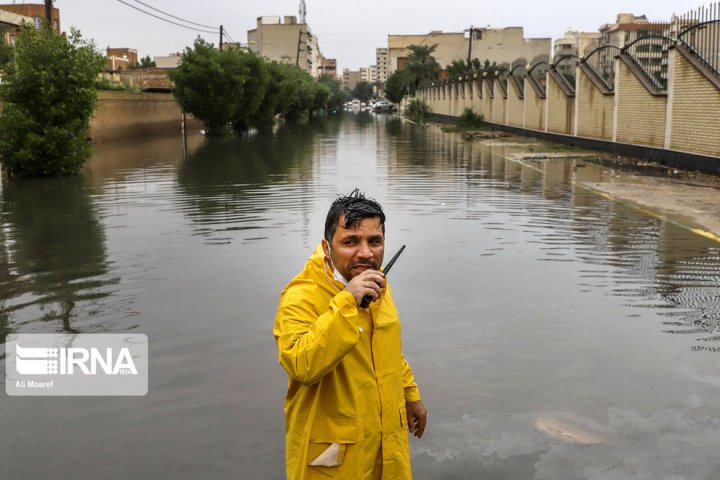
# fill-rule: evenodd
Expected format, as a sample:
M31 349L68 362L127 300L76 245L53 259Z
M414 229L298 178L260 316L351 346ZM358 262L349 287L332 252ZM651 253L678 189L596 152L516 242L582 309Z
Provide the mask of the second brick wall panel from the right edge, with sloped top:
M624 62L616 61L616 65L616 141L663 147L667 97L652 95Z

